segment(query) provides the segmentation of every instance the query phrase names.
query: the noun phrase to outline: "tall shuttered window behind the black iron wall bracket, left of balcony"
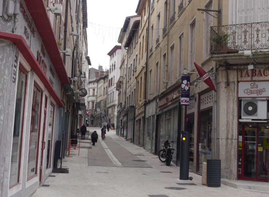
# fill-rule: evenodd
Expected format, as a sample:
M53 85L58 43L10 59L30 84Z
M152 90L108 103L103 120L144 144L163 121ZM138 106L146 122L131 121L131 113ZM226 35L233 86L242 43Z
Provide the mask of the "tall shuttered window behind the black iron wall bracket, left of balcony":
M212 10L212 1L206 6L206 9ZM210 14L205 14L205 31L204 31L204 50L203 50L203 59L209 57L210 55L210 26L212 26L213 17Z

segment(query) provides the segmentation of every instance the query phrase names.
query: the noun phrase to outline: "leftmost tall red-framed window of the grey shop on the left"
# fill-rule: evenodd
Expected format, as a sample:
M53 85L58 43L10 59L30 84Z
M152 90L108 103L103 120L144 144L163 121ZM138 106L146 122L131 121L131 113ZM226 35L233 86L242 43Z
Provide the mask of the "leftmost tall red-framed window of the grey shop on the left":
M21 162L21 137L22 137L22 122L25 98L25 83L26 74L21 70L18 73L17 94L15 105L15 117L13 128L12 153L10 162L10 180L9 186L19 182L19 167Z

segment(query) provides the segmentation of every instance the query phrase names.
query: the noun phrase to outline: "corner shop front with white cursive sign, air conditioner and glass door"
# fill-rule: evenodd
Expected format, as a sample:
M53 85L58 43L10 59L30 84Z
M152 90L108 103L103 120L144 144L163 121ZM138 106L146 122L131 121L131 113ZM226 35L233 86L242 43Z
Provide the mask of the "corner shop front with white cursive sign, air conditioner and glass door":
M238 82L238 179L268 181L268 81Z

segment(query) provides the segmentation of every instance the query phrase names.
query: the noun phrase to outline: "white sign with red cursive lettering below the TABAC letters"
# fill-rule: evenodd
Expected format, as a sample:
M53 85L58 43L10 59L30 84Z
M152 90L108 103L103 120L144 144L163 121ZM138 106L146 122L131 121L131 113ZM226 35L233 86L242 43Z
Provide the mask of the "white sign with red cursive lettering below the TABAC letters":
M238 82L238 97L269 97L269 82Z

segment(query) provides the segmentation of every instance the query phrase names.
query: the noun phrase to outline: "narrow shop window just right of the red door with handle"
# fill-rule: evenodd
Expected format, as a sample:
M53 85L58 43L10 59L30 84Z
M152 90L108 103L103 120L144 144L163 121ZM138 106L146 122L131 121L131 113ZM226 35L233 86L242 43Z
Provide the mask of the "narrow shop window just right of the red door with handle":
M51 167L51 150L52 150L52 135L54 122L54 106L50 104L49 120L48 120L48 142L47 142L47 164L46 168Z

